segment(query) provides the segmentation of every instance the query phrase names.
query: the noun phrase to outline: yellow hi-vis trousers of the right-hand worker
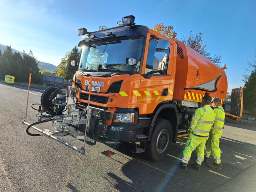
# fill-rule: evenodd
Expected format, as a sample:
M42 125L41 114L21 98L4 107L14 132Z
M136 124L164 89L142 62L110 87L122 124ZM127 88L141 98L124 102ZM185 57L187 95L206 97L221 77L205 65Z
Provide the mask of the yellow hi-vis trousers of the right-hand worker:
M215 162L217 164L221 163L221 160L220 160L220 138L221 138L221 136L222 136L222 131L214 130L214 132L213 132L211 130L210 134L209 134L209 138L205 144L205 147L206 147L205 156L210 157L210 155L212 154L212 156L214 157Z

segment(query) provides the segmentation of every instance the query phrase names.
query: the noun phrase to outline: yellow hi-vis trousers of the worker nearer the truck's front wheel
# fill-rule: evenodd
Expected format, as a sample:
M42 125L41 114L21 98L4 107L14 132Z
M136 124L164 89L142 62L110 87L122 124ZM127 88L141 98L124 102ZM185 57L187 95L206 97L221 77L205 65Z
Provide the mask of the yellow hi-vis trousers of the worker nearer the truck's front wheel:
M190 133L188 140L186 141L186 146L183 151L182 162L188 164L192 151L196 149L196 153L197 153L196 162L201 165L202 162L204 161L204 145L206 140L208 140L208 137L199 137Z

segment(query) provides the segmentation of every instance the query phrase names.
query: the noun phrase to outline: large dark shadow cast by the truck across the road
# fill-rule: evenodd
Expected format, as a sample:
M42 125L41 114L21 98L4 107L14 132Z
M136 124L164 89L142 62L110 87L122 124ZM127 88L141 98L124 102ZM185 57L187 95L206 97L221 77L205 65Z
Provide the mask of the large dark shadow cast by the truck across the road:
M117 151L110 158L122 164L122 172L127 179L117 176L114 170L108 172L105 179L122 192L209 192L226 184L256 162L254 144L221 138L222 170L210 170L208 165L203 163L201 172L196 171L193 166L196 160L195 151L192 153L188 170L183 170L179 164L185 142L186 138L181 138L176 144L172 144L168 156L162 162L149 161L144 155L133 154L124 147L116 148ZM105 151L102 154L107 155L108 152ZM128 162L124 164L120 159L126 159ZM210 163L213 162L212 159ZM113 179L116 181L114 184L110 181Z

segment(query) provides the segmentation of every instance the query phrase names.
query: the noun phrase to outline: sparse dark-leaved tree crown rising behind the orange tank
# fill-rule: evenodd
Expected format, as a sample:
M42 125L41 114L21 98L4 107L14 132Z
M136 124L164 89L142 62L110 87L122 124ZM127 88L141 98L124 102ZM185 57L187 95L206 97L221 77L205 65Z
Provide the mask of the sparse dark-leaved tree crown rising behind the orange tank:
M194 49L204 57L208 58L211 62L215 63L219 66L220 64L220 56L214 55L212 56L212 53L207 51L207 43L204 44L202 40L203 33L199 32L196 33L196 35L192 35L192 31L190 31L190 34L188 37L184 36L181 41L184 42L184 44L190 46L190 48Z

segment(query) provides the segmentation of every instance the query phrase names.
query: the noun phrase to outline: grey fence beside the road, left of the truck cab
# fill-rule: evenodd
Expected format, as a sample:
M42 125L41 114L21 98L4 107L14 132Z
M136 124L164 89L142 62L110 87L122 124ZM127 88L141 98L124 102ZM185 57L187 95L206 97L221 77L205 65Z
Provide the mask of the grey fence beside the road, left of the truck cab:
M50 74L41 74L42 78L42 84L45 83L46 86L61 86L61 87L67 87L72 86L72 82L65 81L63 77L54 76Z

